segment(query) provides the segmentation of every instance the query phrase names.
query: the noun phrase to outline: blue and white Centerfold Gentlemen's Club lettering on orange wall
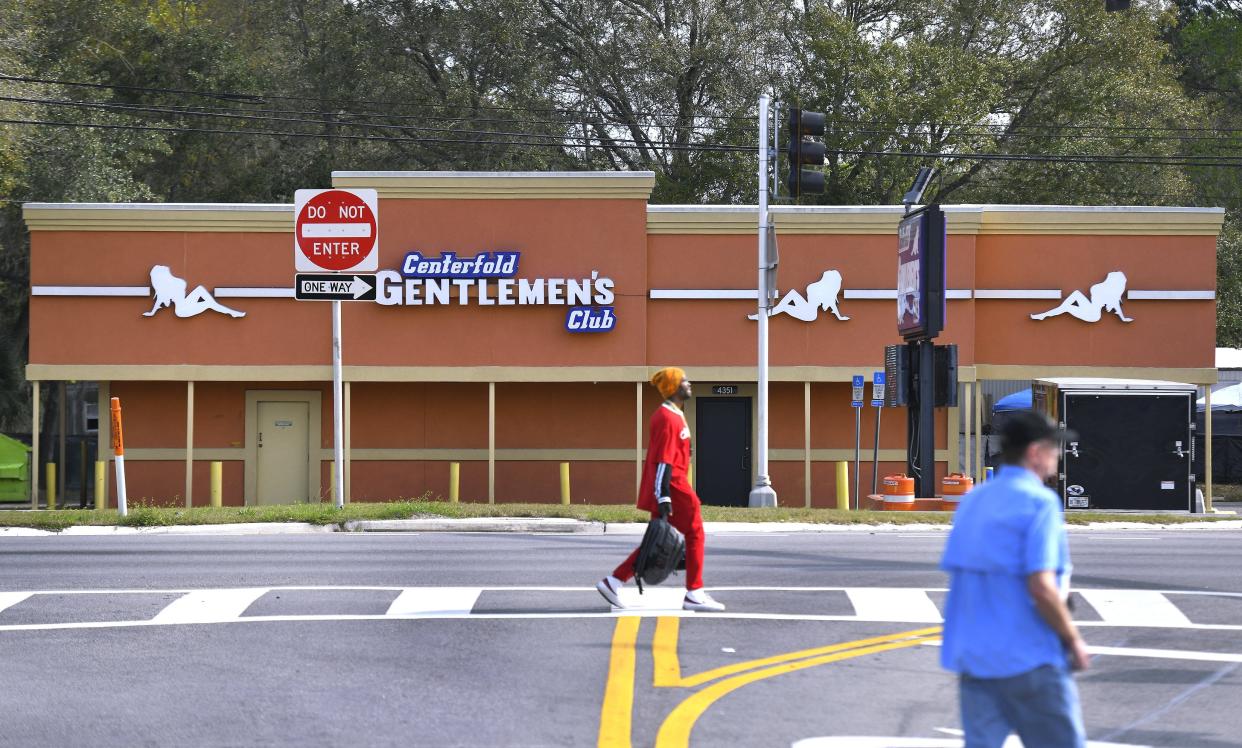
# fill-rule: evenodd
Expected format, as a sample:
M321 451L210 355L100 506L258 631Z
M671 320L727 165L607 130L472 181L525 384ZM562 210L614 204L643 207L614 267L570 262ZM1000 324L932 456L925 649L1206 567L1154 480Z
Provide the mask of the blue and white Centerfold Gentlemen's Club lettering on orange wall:
M599 271L581 278L520 278L522 253L479 252L428 257L409 252L401 270L375 275L375 302L384 306L554 306L568 307L565 329L602 333L616 328L612 278Z

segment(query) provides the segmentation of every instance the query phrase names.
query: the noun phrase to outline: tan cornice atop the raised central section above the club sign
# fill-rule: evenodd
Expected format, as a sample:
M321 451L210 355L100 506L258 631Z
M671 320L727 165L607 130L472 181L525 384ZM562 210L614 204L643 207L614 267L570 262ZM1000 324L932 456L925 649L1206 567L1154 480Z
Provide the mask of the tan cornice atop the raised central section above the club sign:
M647 200L655 171L333 171L332 186L380 198L440 200Z

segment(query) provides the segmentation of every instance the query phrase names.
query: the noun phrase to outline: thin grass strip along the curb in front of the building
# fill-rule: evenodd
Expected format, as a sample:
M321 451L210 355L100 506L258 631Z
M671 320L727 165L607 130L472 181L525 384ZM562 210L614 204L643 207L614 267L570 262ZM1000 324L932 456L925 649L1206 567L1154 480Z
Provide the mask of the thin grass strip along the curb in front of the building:
M343 526L359 519L428 519L469 517L561 517L585 522L646 522L647 514L633 507L615 504L537 504L537 503L448 503L419 498L383 503L350 503L342 509L332 504L281 504L261 507L158 507L137 503L129 516L119 517L114 509L0 511L0 527L29 527L61 531L67 527L122 526L169 527L178 524L229 524L237 522L306 522L320 526ZM1102 512L1071 512L1069 524L1093 522L1138 522L1144 524L1190 524L1220 522L1233 517L1201 514L1130 514ZM946 512L842 512L838 509L807 509L794 507L745 508L703 507L705 522L806 522L814 524L951 524Z

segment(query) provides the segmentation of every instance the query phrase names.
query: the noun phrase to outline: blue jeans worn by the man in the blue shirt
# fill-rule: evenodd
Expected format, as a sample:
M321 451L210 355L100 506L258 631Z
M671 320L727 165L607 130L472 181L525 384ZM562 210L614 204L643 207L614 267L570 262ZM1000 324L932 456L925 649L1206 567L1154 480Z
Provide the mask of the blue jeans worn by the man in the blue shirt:
M1001 748L1010 731L1025 748L1083 748L1078 687L1063 667L1043 665L1009 678L963 673L961 728L966 748Z

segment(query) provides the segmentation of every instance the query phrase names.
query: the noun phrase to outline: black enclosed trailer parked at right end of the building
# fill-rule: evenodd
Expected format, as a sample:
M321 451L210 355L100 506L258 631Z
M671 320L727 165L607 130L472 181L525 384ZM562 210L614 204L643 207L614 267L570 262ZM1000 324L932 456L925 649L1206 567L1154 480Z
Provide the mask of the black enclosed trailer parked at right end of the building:
M1195 385L1036 379L1032 408L1078 439L1063 445L1067 509L1195 508Z

